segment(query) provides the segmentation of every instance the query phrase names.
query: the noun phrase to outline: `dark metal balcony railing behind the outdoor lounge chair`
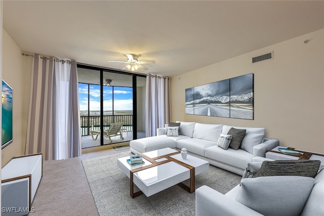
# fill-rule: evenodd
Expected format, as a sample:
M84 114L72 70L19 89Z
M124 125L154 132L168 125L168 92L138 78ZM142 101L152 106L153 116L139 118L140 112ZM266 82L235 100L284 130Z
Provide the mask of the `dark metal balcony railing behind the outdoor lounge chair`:
M90 135L90 131L100 129L100 115L83 115L81 120L81 136ZM133 115L104 115L103 129L108 129L111 123L124 122L122 128L133 131Z

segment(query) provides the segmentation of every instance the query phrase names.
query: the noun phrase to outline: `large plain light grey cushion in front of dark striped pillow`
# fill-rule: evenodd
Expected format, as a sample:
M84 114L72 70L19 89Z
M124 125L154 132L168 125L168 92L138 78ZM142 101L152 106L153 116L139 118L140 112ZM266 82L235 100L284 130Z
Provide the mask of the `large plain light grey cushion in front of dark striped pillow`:
M314 181L300 176L242 179L235 200L267 216L300 215Z

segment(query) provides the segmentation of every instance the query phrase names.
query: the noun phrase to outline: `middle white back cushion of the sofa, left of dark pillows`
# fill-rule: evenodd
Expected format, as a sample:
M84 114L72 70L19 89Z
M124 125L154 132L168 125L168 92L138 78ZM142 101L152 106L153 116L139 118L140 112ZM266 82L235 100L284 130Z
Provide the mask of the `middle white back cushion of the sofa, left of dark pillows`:
M223 124L196 123L193 129L192 138L217 142L222 133Z

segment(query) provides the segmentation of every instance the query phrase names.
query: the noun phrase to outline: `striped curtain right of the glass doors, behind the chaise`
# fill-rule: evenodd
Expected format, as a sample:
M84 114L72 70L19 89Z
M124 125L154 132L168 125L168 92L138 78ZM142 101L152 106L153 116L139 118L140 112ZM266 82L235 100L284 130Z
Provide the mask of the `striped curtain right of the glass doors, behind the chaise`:
M146 78L146 137L170 120L170 77L148 74Z

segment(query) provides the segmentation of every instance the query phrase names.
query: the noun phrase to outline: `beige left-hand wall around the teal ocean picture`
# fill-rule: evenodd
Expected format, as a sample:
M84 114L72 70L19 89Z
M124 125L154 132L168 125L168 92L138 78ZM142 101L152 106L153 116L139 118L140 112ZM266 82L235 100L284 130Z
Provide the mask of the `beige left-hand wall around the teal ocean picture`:
M24 153L22 133L23 109L23 57L21 50L3 29L2 78L13 88L13 142L2 150L2 167L14 156ZM30 82L30 80L28 80Z

